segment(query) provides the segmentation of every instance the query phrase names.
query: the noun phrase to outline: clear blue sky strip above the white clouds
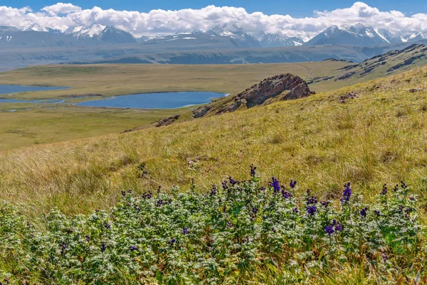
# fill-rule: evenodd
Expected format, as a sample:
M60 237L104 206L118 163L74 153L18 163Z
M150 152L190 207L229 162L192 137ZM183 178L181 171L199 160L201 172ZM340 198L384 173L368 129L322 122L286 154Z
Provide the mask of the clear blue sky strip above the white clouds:
M115 9L115 10L131 10L131 11L150 11L152 9L200 9L208 5L215 6L236 6L243 7L249 13L254 11L262 11L264 14L289 14L292 17L304 17L312 16L315 10L334 10L339 8L345 8L352 6L355 0L302 0L302 1L289 1L289 0L70 0L62 1L64 3L72 3L80 6L83 9L90 9L93 6L99 6L102 9ZM47 1L47 0L2 0L0 5L22 7L30 6L34 11L38 11L44 6L49 6L58 3L58 1ZM369 6L374 6L381 11L398 10L411 16L415 13L426 13L427 12L427 1L426 0L376 0L376 1L364 1Z

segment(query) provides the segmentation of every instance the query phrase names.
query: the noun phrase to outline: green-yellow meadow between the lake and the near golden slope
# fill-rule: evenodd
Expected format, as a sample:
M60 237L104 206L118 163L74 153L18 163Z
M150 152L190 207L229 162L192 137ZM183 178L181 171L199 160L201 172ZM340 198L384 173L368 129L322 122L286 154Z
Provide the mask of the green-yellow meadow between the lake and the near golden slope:
M182 119L191 118L188 108L122 110L1 103L0 150L122 133L129 128L149 125L176 114L182 114Z

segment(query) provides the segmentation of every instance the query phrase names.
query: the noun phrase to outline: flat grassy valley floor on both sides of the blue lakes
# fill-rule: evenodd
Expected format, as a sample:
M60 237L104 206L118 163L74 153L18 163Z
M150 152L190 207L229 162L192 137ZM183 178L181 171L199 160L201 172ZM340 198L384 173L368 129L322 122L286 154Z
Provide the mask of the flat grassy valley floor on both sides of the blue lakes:
M38 66L0 73L0 84L70 86L70 90L13 94L14 98L123 95L130 93L206 90L239 93L263 78L292 72L303 78L334 73L345 63L285 63L254 66ZM334 84L312 86L330 90ZM8 97L8 95L0 95ZM0 150L120 133L147 125L179 110L119 110L70 105L0 104ZM30 108L31 110L27 110ZM6 110L17 110L14 113ZM186 118L183 116L183 118Z

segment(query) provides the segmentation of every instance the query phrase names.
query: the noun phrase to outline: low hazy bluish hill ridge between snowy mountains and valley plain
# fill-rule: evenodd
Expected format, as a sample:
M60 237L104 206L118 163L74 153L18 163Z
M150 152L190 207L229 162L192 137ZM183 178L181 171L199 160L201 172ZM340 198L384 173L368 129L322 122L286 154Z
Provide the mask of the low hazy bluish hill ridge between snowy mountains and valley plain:
M165 43L168 45L169 43ZM161 64L245 64L245 63L297 63L305 61L335 60L359 63L391 50L406 48L409 44L383 45L374 47L361 46L288 46L281 48L246 48L199 51L144 52L132 55L111 56L97 61L63 61L74 64L96 63L161 63ZM203 48L203 47L200 47ZM121 50L123 51L123 49Z

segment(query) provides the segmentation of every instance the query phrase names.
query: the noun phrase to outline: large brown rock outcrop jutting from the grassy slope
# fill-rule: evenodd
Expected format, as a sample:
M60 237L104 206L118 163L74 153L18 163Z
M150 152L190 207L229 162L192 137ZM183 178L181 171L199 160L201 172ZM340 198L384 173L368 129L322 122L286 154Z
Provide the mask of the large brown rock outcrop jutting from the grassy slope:
M246 89L224 103L214 101L194 110L194 118L201 118L209 113L221 114L233 112L238 108L252 108L266 105L278 100L293 100L313 94L307 83L299 76L290 73L266 78L260 83ZM221 101L221 100L219 100Z

